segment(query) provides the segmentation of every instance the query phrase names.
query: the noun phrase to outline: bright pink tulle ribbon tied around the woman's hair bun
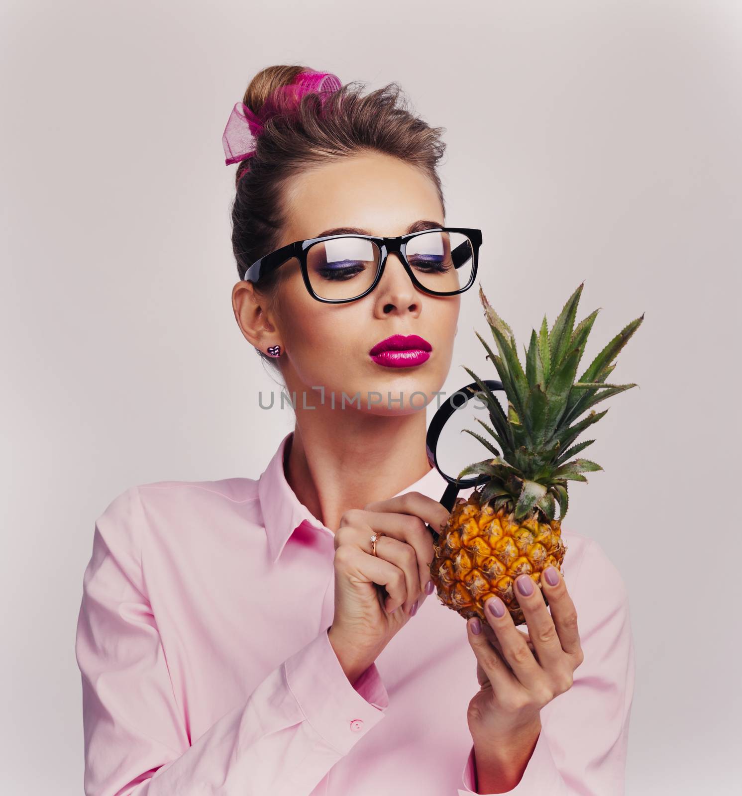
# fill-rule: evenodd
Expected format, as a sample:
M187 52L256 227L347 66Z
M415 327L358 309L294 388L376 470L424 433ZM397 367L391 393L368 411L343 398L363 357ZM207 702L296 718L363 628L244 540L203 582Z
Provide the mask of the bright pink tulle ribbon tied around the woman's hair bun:
M225 164L229 166L255 154L256 139L264 129L263 119L290 111L309 92L318 93L323 102L332 92L338 91L338 88L342 88L338 76L332 72L315 72L310 69L299 72L291 85L279 86L271 92L264 106L260 108L260 117L244 103L235 103L221 137Z

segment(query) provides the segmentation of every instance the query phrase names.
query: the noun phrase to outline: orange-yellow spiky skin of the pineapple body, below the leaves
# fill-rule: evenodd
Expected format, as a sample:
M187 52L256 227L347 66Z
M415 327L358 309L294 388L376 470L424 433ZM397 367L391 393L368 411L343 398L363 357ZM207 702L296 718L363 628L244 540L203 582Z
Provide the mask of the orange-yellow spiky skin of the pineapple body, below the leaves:
M468 619L487 622L484 603L497 595L506 604L515 625L525 624L514 582L529 575L541 588L541 572L552 565L561 572L567 545L560 520L539 522L537 517L515 521L506 508L482 505L478 490L457 503L446 527L433 545L430 573L443 605ZM545 603L549 605L545 592Z

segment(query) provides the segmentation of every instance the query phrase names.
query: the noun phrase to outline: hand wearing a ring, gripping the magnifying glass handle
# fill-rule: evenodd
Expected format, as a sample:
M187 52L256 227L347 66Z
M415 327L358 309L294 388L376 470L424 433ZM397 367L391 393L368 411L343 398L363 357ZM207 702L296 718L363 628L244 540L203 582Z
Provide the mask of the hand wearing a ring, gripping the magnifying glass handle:
M353 683L432 594L433 539L449 512L432 497L406 492L350 509L335 532L335 613L328 630ZM371 537L381 531L373 556ZM426 590L426 586L428 589ZM382 588L386 589L386 596Z

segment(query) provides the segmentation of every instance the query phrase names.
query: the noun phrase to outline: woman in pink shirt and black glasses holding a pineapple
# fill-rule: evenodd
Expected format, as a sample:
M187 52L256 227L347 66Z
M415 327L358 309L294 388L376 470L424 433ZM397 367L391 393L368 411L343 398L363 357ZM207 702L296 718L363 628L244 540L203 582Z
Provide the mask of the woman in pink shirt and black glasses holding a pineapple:
M497 598L488 626L428 599L446 485L412 394L441 388L467 286L435 257L440 130L394 85L276 66L232 112L232 306L295 428L260 478L133 486L96 521L88 796L623 793L634 651L598 544L563 530L549 610L519 593L530 635ZM363 235L402 236L383 271Z

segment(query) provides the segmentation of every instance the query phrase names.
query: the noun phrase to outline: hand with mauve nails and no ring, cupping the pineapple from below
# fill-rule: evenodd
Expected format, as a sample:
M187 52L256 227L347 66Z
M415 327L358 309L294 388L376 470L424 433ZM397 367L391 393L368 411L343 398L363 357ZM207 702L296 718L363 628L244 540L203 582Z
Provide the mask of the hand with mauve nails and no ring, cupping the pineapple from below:
M517 629L498 597L485 603L489 624L478 618L467 620L467 636L477 657L481 686L467 712L475 746L489 747L512 739L518 732L527 734L529 728L540 727L541 708L572 687L572 673L584 656L575 604L560 572L556 575L556 585L550 586L541 574L551 615L541 589L530 576L521 575L515 581L528 633ZM529 595L521 594L524 582L532 587ZM501 617L491 611L498 603L505 608ZM482 630L474 634L472 626L477 623Z

